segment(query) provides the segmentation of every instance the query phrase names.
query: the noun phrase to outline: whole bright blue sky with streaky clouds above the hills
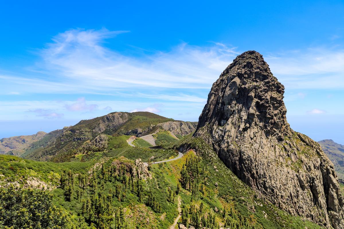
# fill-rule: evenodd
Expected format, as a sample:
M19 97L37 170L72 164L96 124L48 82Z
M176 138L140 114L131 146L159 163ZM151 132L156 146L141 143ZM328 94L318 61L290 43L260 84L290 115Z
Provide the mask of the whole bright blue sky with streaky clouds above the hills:
M0 138L114 111L197 121L238 54L286 87L293 129L344 144L343 1L17 1L0 8Z

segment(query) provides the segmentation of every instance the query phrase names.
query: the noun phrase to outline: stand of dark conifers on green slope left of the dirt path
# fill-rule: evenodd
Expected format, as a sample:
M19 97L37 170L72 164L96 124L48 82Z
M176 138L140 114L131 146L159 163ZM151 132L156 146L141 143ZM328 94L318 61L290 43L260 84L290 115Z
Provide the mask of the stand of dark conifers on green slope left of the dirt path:
M110 189L105 189L106 183L111 183ZM73 174L71 170L64 171L60 178L60 188L64 190L66 201L77 199L81 202L80 215L91 228L121 229L127 228L125 212L116 201L123 202L128 193L137 196L137 200L154 212L162 212L162 207L156 196L146 187L146 182L139 179L139 171L135 166L124 163L112 163L101 166L101 169L91 175ZM76 198L75 195L76 194ZM175 191L169 189L166 201L173 201Z

